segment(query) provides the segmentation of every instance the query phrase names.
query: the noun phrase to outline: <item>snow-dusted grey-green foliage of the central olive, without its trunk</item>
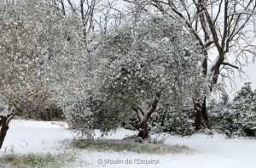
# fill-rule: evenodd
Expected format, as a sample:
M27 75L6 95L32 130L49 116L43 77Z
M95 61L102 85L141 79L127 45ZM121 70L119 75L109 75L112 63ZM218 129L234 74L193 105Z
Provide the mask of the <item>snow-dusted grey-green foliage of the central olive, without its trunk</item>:
M183 23L153 14L138 20L137 25L125 20L125 24L96 39L97 47L90 53L96 66L89 72L93 77L88 94L83 95L89 98L76 105L78 97L66 108L67 120L76 131L86 134L99 128L108 132L121 122L137 128L132 107L139 107L146 114L156 92L160 92L160 104L172 104L177 113L182 113L177 106L182 107L184 99L187 101L194 94L195 85L204 80L198 65L203 58L201 49L183 30ZM156 111L160 116L154 115L149 124L166 122L165 128L157 124L153 127L170 130L170 126L179 126L175 132L190 134L187 127L191 120L186 115L165 117L162 112L170 113ZM172 125L169 117L176 118Z

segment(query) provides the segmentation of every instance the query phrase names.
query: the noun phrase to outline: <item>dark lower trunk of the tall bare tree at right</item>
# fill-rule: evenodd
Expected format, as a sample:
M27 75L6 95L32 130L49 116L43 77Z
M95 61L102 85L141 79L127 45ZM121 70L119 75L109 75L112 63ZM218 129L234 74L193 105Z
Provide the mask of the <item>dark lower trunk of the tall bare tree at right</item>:
M202 127L210 128L207 115L207 98L204 98L203 103L195 103L195 130L198 131Z

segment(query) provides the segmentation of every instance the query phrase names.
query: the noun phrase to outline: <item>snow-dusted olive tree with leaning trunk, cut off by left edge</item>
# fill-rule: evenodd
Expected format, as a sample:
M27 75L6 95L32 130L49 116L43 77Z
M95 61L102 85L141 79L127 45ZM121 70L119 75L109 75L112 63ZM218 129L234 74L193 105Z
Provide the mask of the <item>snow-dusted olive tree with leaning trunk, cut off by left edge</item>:
M2 146L15 109L26 99L39 100L41 104L38 95L51 92L48 62L67 52L73 30L62 29L67 22L44 1L4 1L0 11Z

